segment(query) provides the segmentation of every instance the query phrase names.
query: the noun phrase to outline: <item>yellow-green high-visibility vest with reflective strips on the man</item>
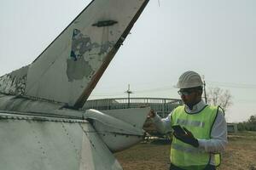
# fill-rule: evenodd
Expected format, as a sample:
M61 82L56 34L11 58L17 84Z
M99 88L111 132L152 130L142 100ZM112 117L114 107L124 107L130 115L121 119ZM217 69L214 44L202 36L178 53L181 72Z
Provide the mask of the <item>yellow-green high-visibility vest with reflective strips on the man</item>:
M179 106L172 112L171 126L186 127L196 139L211 139L217 114L216 106L206 105L202 111L193 114L187 113L184 106ZM173 136L170 158L173 165L185 170L203 170L210 163L211 153L185 144ZM214 154L214 160L217 167L220 164L219 153Z

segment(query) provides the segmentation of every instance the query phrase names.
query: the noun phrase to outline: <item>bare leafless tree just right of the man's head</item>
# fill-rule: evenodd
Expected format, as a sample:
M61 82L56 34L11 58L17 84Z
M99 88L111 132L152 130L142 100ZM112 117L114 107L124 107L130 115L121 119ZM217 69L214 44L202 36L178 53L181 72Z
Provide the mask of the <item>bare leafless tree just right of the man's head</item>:
M220 105L224 111L232 105L230 90L222 88L207 88L207 103L210 105Z

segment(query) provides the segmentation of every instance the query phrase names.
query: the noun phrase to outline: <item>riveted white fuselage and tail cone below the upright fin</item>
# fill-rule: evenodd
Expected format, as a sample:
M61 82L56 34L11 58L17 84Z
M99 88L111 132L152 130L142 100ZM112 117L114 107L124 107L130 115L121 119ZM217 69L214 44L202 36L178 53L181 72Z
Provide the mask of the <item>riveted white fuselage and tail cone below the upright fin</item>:
M0 154L0 169L6 167L4 169L15 170L17 167L11 164L15 160L18 161L17 165L22 164L21 170L29 170L28 167L57 170L60 169L58 166L62 164L60 160L67 159L67 156L62 156L62 154L77 157L68 161L70 165L67 167L73 166L71 169L104 169L102 166L107 166L106 169L121 169L118 161L109 155L109 150L113 152L125 150L141 141L143 139L142 127L148 111L149 108L115 110L113 113L108 111L108 114L99 111L75 111L63 108L59 103L0 94L0 150L3 149ZM93 127L84 118L89 119ZM79 135L83 136L83 139L77 136L65 139L63 129L65 131L66 126L63 126L63 123L68 124L67 127L72 126L72 130L69 131L70 135L77 134L79 130L82 130L83 133L79 133ZM62 131L60 126L63 127ZM90 129L88 130L87 127ZM35 133L42 139L42 141L38 141L38 144L33 140L38 138L38 136L34 136ZM26 136L26 140L21 139L20 141L20 136ZM9 140L16 142L9 144ZM73 152L72 144L62 145L68 144L68 140L83 141L81 144L79 143L79 149L75 152L80 154L80 158L79 154L75 155ZM34 145L33 142L35 142ZM58 143L61 143L67 152L60 151L60 147L55 146ZM9 147L9 150L6 147ZM30 150L35 152L31 153ZM88 150L90 151L88 152ZM55 155L58 155L59 158L54 159ZM19 159L19 157L22 158ZM98 162L102 159L108 161L107 164ZM41 162L38 162L39 160ZM78 161L79 167L77 167ZM24 167L24 165L27 166Z

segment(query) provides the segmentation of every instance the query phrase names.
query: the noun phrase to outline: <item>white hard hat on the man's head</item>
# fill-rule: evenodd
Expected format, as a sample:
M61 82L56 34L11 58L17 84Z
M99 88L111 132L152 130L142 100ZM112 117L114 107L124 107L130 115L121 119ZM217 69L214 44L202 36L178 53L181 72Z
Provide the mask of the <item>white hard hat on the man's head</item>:
M195 71L186 71L178 79L175 88L195 88L202 86L200 75Z

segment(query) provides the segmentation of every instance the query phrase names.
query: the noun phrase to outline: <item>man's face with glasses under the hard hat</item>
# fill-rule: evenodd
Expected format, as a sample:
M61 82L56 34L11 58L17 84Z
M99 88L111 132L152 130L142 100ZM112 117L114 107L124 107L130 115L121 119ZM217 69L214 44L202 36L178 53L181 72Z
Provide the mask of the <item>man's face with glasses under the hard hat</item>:
M201 100L201 91L196 88L181 88L177 93L185 105L195 105Z

